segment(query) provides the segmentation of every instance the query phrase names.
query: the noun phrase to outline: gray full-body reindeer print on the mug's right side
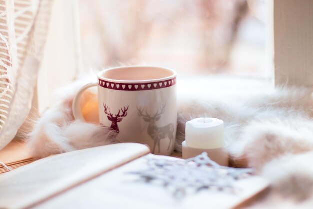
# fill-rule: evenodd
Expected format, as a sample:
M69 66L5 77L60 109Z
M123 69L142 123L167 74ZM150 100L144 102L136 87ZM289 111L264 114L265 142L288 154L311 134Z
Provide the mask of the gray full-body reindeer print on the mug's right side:
M160 108L158 108L156 113L153 115L148 114L146 110L144 111L144 108L141 109L137 107L137 110L138 110L138 115L142 117L142 119L145 122L149 123L148 128L147 128L147 133L154 141L152 153L154 153L156 145L158 147L157 153L160 152L160 141L161 139L165 139L166 137L169 139L169 143L167 147L167 150L168 150L170 145L174 144L174 124L170 123L168 125L160 126L160 127L155 124L155 122L158 121L161 115L164 113L165 104L163 104ZM142 113L143 111L145 113Z

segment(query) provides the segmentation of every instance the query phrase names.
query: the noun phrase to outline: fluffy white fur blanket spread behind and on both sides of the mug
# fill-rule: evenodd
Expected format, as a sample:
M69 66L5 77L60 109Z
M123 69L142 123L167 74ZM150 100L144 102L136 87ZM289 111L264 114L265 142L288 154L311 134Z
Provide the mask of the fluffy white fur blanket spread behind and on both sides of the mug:
M44 112L28 135L34 155L44 157L118 141L107 128L73 120L73 95L94 79L95 76L84 78L60 90L59 104ZM176 150L181 148L185 121L196 117L222 119L227 149L234 163L254 168L272 183L271 192L249 207L292 208L296 204L297 208L311 208L311 90L274 89L270 81L224 76L178 77L177 85ZM89 114L92 115L90 111ZM96 116L90 118L96 121Z

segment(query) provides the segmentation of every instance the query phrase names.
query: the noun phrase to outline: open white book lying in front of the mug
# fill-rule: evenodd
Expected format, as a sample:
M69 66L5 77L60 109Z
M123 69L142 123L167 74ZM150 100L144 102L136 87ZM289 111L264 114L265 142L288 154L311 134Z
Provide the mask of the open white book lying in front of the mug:
M174 198L164 187L135 181L149 154L120 143L46 157L0 175L0 208L234 208L267 187L258 176L238 180L239 193L199 192Z

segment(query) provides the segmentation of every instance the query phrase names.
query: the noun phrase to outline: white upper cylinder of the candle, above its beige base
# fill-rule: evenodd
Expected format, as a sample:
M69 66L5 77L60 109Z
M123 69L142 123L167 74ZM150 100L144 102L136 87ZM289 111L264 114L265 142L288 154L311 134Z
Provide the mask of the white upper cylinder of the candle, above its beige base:
M217 118L195 118L186 122L188 147L213 149L224 146L224 123Z

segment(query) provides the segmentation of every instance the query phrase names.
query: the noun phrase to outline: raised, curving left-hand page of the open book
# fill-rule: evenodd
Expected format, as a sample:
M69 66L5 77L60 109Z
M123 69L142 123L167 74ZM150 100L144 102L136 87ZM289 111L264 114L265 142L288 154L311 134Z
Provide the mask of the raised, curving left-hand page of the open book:
M149 153L120 143L53 155L0 175L0 208L25 208Z

